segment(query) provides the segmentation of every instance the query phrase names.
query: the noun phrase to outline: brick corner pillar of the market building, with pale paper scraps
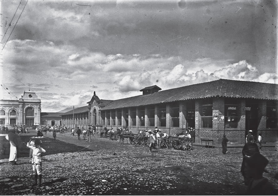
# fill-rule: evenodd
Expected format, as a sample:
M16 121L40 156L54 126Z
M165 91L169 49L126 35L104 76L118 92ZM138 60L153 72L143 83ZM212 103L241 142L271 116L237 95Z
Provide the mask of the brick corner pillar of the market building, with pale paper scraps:
M215 130L224 131L224 117L225 111L225 98L223 97L214 97L212 99L212 128Z

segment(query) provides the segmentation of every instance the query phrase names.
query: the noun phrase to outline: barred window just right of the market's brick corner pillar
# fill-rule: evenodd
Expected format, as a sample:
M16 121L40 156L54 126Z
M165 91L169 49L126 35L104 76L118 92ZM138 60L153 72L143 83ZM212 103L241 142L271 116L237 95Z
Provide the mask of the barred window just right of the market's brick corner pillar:
M238 106L225 104L225 128L237 128L239 113Z

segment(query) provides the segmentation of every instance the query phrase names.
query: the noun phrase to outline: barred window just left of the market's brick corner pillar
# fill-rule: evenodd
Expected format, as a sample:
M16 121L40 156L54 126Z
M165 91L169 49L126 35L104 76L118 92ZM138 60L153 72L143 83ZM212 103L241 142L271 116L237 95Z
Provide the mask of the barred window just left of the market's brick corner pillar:
M212 101L201 106L201 128L212 128Z

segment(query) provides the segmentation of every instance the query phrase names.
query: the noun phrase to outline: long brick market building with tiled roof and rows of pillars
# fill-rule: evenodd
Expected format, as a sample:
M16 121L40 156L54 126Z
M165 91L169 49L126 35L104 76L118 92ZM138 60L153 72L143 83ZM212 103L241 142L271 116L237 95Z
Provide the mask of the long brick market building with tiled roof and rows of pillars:
M117 100L101 100L94 93L87 111L84 107L74 122L79 125L78 120L86 116L86 126L97 129L129 126L137 133L158 127L170 135L195 127L197 140L211 138L217 143L224 133L231 143L244 143L249 130L255 136L262 133L265 142L278 138L277 84L219 79L164 91L154 85L140 91L142 95ZM71 120L71 114L62 115L62 123Z

